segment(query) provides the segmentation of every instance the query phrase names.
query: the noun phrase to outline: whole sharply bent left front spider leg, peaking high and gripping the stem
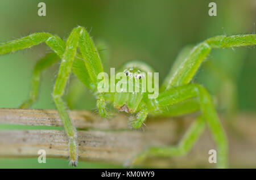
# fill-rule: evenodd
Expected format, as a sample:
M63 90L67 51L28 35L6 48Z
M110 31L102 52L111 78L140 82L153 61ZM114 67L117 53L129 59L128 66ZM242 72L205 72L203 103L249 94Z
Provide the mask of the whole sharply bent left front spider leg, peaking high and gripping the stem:
M81 56L85 61L83 64L80 64L81 61L77 61L75 63L75 66L73 66L73 61L75 59L76 49L78 46L80 48ZM84 66L82 65L85 65L87 71L82 71L85 70ZM71 70L77 75L79 79L82 80L85 85L96 91L95 88L97 87L98 83L97 75L100 72L103 72L103 68L101 65L100 56L98 55L98 52L94 46L92 39L89 36L89 33L86 32L85 28L82 27L77 27L73 29L71 35L69 35L68 37L65 45L65 51L62 56L59 73L57 75L55 87L52 94L53 100L55 101L55 105L60 113L61 120L63 121L65 131L69 138L70 162L72 165L76 166L76 128L73 126L72 119L69 118L64 101L61 98L64 94L64 89L68 82ZM98 94L98 96L101 96L101 94ZM101 104L100 108L105 110L105 101L103 97L101 102L104 104ZM99 109L99 112L101 112L100 110L101 109ZM105 112L103 111L103 113Z

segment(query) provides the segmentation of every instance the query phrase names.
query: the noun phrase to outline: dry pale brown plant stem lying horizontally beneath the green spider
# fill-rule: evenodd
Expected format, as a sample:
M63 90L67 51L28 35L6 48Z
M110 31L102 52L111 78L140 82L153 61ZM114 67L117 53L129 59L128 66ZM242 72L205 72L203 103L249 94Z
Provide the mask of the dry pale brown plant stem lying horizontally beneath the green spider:
M76 127L89 128L77 131L80 161L97 161L123 164L143 148L151 145L170 145L179 142L183 131L193 118L148 119L145 131L134 131L127 125L127 117L118 114L110 120L101 119L91 112L69 112ZM179 122L184 123L179 128ZM0 123L35 126L62 126L56 110L0 109ZM230 167L253 168L256 165L256 116L241 115L238 130L244 139L228 132ZM94 130L97 129L97 130ZM177 133L177 130L180 133ZM225 128L228 130L228 128ZM107 130L107 131L106 131ZM38 157L39 149L46 149L48 158L68 158L68 138L60 130L4 130L0 131L0 157ZM214 149L209 132L204 132L192 151L183 157L148 159L142 166L162 168L213 167L208 162L208 151Z

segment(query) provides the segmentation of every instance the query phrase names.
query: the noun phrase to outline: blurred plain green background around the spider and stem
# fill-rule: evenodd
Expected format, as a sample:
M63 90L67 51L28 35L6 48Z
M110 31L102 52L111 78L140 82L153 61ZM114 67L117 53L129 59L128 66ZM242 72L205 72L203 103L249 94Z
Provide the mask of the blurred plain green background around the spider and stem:
M38 16L39 2L46 3L45 17ZM209 2L216 2L217 16L208 15ZM42 31L65 39L72 28L81 25L94 40L108 44L109 67L118 68L124 62L139 59L152 65L162 82L185 45L216 35L254 33L255 18L255 0L1 0L0 42ZM32 69L47 52L49 48L42 44L0 57L0 108L18 108L26 100ZM204 84L219 100L220 112L255 112L255 55L254 47L213 50L193 81ZM58 64L43 72L40 98L31 108L55 109L51 91L57 68ZM95 100L84 91L75 108L91 110ZM0 125L1 130L13 128L16 126ZM39 164L37 158L0 158L0 168L68 168L67 165L67 160L47 159L46 164ZM79 162L79 168L118 167Z

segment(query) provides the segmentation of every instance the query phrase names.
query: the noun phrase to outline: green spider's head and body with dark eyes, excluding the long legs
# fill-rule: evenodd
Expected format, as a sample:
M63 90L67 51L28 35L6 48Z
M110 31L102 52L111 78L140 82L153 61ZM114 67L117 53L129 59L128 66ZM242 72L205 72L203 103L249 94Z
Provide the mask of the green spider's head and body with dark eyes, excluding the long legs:
M105 100L111 101L119 112L135 114L129 118L130 125L141 127L150 113L147 110L148 104L158 96L158 73L145 63L130 61L115 75L114 83L115 92L107 93Z

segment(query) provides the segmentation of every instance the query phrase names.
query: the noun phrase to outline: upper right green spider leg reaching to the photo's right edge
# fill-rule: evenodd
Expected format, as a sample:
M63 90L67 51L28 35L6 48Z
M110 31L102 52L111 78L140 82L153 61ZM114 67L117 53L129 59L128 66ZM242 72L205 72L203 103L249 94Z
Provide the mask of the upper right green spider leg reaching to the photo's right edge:
M256 35L216 36L201 42L192 50L185 48L179 54L174 66L164 80L160 91L179 85L188 84L201 63L210 53L210 50L217 48L233 48L240 46L251 46L256 44Z

